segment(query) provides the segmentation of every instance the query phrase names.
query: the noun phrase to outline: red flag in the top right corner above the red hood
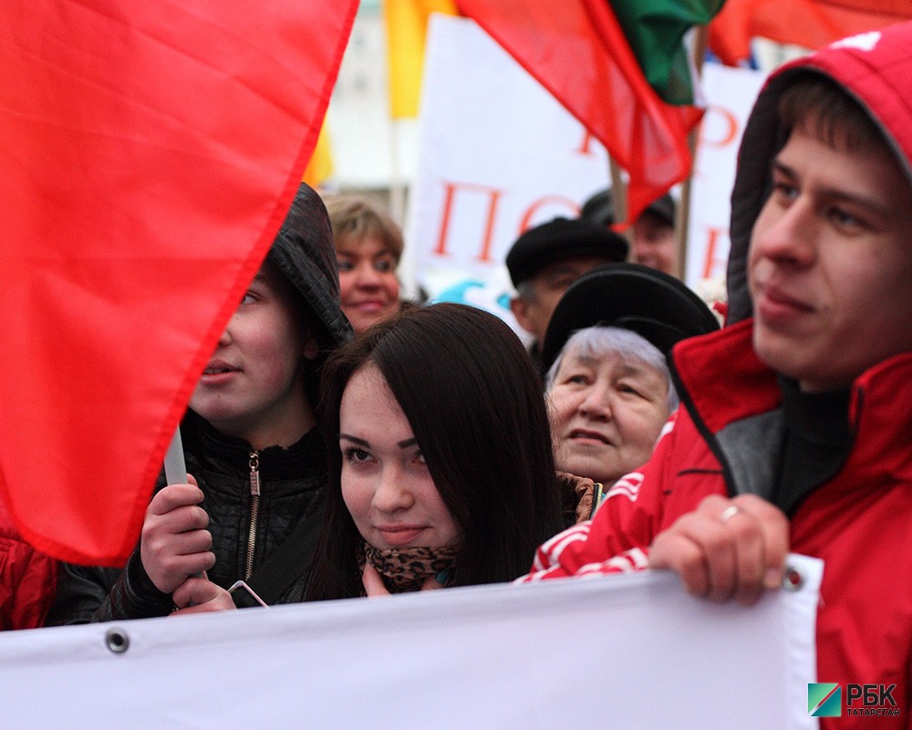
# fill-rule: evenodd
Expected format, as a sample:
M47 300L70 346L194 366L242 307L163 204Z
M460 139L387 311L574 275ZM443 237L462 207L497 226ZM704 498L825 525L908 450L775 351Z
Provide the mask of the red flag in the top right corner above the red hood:
M905 20L908 0L726 0L710 23L710 48L736 66L751 57L756 36L816 50Z

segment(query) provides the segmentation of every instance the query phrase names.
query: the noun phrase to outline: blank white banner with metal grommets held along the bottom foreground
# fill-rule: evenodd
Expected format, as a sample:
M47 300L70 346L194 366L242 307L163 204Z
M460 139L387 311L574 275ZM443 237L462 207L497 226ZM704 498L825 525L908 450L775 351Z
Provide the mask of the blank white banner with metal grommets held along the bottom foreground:
M750 609L663 572L7 632L2 722L805 730L822 565L794 561Z

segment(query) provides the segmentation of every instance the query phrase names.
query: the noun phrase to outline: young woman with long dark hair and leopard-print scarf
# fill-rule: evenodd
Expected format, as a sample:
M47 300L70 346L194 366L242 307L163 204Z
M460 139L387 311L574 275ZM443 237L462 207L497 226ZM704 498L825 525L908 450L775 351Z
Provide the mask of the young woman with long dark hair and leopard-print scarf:
M307 600L511 580L561 528L541 383L499 318L411 310L338 349L322 391L330 488Z

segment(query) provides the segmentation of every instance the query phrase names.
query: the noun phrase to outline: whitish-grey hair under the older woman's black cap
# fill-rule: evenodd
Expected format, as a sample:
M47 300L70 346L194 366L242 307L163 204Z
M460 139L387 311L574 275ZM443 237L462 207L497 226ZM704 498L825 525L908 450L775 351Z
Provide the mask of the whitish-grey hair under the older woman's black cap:
M642 335L637 335L632 329L620 327L587 327L577 329L564 347L557 353L554 364L544 377L544 391L548 393L554 386L557 370L560 370L564 356L570 351L575 351L585 358L605 358L615 355L622 360L636 360L656 370L668 382L668 412L678 408L678 391L671 381L671 372L668 370L668 360L661 351Z

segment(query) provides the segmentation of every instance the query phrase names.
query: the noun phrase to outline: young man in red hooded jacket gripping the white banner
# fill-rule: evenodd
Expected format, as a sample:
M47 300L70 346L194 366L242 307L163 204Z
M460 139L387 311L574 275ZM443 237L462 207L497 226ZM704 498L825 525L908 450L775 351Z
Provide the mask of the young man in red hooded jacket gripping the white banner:
M778 70L732 193L729 324L674 350L677 419L526 580L670 568L750 604L789 550L824 559L822 682L893 687L912 660L912 23Z

